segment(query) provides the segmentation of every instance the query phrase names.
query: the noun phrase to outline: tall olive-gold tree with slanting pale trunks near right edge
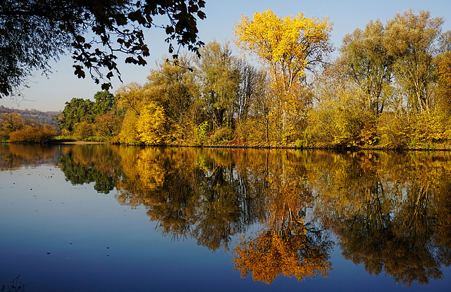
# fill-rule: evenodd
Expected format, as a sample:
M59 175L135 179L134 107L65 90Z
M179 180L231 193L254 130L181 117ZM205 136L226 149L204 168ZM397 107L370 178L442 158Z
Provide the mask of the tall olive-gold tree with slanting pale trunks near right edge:
M429 11L397 13L385 27L385 48L409 106L418 112L434 108L433 58L439 48L443 18Z

